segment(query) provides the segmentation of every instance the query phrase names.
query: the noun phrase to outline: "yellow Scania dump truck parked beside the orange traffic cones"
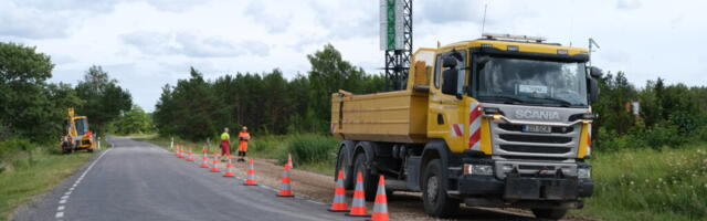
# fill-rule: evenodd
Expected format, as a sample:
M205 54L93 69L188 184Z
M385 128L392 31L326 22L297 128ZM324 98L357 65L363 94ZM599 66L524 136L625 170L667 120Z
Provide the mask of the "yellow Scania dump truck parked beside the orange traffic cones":
M465 203L559 219L593 191L601 71L587 62L585 49L509 34L420 49L405 90L331 95L336 169L348 189L362 172L368 200L378 175L391 191L421 191L433 217Z

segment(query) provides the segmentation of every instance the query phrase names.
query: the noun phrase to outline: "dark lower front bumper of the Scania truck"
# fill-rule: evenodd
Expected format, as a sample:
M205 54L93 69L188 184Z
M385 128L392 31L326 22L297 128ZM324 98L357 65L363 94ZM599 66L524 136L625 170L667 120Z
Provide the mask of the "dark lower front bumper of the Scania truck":
M577 200L591 197L594 183L591 179L506 177L464 175L457 179L460 197L493 197L505 201L517 200Z

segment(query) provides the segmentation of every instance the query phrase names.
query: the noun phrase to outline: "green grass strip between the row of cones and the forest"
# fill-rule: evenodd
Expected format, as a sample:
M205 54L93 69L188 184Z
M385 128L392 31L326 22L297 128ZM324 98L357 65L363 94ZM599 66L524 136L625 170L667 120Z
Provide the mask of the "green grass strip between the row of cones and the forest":
M169 137L141 137L136 140L148 141L169 149L171 138ZM336 147L339 141L325 135L300 134L300 135L266 135L253 137L249 144L249 157L275 159L284 165L287 161L287 154L292 154L293 164L297 169L304 169L324 175L334 175L336 165ZM175 145L180 144L193 147L194 154L200 154L207 141L193 143L175 138ZM221 148L215 141L211 141L209 154L220 154ZM235 157L238 144L231 144L232 156Z

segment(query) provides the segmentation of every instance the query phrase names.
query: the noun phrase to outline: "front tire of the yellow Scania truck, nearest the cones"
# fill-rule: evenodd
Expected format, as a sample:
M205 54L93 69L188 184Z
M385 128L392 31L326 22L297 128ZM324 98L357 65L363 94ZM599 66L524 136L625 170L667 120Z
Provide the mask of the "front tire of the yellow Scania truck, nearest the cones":
M433 159L425 167L422 182L424 212L435 218L449 218L460 209L460 200L446 193L447 180L442 176L442 162Z

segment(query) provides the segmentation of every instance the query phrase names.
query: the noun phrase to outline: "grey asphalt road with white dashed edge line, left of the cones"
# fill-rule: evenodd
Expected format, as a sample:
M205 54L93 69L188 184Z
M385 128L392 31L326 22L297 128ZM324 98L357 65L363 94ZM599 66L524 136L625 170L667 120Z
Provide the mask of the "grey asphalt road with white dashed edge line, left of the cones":
M13 220L346 220L327 204L278 198L273 189L198 168L162 148L127 138Z

